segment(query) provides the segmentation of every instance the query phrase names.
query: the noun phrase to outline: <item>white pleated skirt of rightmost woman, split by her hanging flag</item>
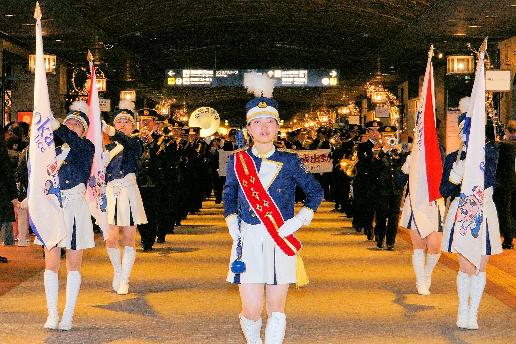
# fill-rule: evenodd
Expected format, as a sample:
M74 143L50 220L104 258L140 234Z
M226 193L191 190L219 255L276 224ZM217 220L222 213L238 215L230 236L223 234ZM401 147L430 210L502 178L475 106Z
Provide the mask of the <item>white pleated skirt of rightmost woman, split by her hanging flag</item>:
M484 190L483 216L486 219L487 230L480 230L481 235L481 255L497 255L503 252L502 239L500 237L500 227L498 224L498 213L493 202L493 187ZM451 201L451 205L446 215L443 230L443 242L441 250L445 252L457 253L453 248L453 233L455 230L455 214L459 205L459 197ZM457 229L458 230L458 229Z

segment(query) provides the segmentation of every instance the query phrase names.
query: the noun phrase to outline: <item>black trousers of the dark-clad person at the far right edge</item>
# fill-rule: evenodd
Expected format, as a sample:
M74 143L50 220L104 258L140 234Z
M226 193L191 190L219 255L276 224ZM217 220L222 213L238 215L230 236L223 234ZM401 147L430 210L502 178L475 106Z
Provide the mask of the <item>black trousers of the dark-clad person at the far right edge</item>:
M512 243L512 219L516 218L516 191L496 187L493 192L493 201L498 211L500 234L504 243Z

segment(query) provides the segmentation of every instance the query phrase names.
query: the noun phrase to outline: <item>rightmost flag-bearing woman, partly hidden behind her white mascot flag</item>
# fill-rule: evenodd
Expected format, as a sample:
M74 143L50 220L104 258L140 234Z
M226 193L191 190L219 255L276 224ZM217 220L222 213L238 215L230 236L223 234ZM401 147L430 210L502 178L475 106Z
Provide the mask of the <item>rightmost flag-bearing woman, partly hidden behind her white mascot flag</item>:
M460 105L459 105L460 106ZM466 106L467 108L467 106ZM465 141L464 127L465 114L458 118L459 136L462 142ZM486 267L491 255L502 253L502 240L498 226L498 216L493 202L493 189L496 186L496 166L498 163L498 146L494 143L493 125L486 126L487 141L485 144L485 166L484 166L484 187L483 190L483 221L486 225L477 233L480 234L481 251L473 252L473 255L480 255L480 267L475 269L469 260L454 249L454 231L462 230L455 228L455 216L457 209L464 205L467 199L460 196L461 182L464 175L464 159L466 158L466 147L460 152L460 161L456 162L458 151L451 152L444 160L443 178L441 180L441 195L451 196L451 205L445 218L443 242L441 249L446 252L457 253L459 260L459 272L457 273L457 294L459 296L459 307L457 311L457 326L461 329L477 330L477 312L480 305L482 293L486 287ZM472 202L473 204L473 202ZM483 225L483 224L482 224ZM471 254L471 252L469 252ZM469 299L469 304L468 304Z

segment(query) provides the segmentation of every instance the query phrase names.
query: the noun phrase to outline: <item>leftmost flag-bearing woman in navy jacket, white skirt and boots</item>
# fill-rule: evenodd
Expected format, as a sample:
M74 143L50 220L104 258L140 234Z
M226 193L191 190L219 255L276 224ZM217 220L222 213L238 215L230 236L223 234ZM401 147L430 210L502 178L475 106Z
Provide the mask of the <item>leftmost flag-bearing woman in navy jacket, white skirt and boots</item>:
M55 118L52 123L54 134L65 142L61 147L56 148L56 155L67 235L55 247L50 249L45 247L45 273L43 276L46 304L49 310L49 317L44 327L49 330L59 329L62 331L72 328L72 316L80 288L80 264L83 250L95 247L90 211L84 198L95 147L89 139L84 137L89 125L88 116L83 112L87 111L86 103L74 103L71 108L80 108L82 111L70 111L63 124ZM42 245L38 238L34 240L34 243ZM61 247L67 249L68 276L65 311L59 322L57 296Z

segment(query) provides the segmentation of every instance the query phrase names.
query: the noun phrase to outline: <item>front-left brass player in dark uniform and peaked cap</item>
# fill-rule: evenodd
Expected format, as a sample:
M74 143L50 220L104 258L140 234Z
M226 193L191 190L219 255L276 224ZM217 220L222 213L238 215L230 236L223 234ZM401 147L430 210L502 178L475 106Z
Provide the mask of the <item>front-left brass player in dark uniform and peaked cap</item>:
M148 221L146 225L138 225L138 232L141 236L140 244L143 252L149 252L152 251L152 245L156 241L159 203L162 187L165 184L163 173L165 147L163 136L154 132L155 122L158 119L156 111L143 108L138 111L138 115L140 116L139 136L143 142L143 149L136 182Z

